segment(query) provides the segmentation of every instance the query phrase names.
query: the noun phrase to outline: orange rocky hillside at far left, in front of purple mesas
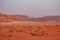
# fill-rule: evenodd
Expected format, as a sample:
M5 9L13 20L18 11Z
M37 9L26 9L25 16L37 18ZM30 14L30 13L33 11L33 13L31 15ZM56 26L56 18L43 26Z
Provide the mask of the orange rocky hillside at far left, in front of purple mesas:
M20 19L12 16L12 15L5 15L0 13L0 22L8 22L8 21L19 21Z

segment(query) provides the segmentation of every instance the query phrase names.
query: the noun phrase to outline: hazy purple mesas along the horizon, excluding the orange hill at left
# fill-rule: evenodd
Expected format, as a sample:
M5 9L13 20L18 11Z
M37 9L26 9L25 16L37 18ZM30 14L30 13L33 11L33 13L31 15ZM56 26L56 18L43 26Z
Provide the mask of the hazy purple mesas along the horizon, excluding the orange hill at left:
M21 21L36 21L36 22L60 22L60 16L45 16L40 18L29 18L25 15L14 15Z

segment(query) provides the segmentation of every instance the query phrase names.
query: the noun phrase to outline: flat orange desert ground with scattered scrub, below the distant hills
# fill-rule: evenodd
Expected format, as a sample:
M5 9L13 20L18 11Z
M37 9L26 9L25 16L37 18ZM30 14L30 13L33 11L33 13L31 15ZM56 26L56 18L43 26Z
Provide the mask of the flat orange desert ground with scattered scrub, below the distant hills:
M60 40L60 23L1 22L0 40Z

